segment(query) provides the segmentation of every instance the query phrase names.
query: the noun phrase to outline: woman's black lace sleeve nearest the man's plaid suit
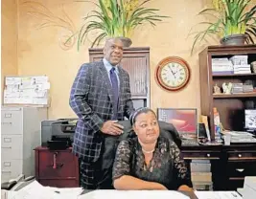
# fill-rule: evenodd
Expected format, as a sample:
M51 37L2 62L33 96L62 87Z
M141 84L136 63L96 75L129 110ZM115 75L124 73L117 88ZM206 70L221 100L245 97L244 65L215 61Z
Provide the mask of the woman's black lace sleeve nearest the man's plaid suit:
M116 150L115 161L113 165L112 179L115 180L123 175L130 173L130 155L131 148L128 141L121 141Z

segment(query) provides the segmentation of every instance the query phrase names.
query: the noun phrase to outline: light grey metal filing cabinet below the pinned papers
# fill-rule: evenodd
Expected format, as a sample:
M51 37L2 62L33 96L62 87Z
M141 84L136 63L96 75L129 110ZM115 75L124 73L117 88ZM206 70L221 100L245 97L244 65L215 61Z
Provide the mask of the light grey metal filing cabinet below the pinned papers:
M47 108L2 106L1 119L1 181L35 175L34 148L41 143Z

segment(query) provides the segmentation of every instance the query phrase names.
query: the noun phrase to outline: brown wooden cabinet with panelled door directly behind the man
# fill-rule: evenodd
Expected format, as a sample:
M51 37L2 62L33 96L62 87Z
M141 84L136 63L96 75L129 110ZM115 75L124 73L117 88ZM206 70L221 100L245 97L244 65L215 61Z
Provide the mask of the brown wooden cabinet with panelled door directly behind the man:
M91 48L89 56L90 61L99 61L104 57L103 49ZM128 72L134 107L150 107L150 48L125 48L120 65Z

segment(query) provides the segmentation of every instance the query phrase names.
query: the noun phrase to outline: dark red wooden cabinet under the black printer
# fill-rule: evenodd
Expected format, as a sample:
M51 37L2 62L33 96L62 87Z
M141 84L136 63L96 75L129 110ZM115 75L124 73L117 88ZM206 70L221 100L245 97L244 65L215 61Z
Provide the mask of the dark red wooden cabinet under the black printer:
M80 187L78 159L72 148L49 150L35 148L35 179L43 186L57 188Z

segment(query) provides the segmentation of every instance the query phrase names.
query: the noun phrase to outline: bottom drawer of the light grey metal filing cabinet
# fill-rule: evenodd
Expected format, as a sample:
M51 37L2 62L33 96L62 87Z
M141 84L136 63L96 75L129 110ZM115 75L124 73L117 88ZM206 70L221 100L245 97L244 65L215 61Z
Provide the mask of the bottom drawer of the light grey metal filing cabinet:
M16 178L18 175L22 173L22 160L2 160L1 167L2 182L9 181L12 178Z

